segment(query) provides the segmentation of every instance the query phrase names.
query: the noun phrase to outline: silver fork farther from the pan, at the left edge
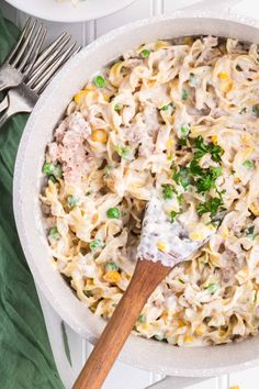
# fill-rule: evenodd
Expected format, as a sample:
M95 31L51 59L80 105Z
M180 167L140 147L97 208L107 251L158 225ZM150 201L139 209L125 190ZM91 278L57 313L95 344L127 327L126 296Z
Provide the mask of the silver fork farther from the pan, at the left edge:
M16 87L32 70L42 48L47 29L27 20L20 38L0 66L0 91Z

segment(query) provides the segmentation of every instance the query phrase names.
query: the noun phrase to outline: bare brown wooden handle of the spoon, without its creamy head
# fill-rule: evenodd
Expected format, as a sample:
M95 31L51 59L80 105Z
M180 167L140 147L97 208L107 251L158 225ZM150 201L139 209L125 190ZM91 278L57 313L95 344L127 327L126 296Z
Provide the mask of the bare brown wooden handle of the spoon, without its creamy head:
M132 281L82 368L74 389L100 389L142 309L169 273L160 263L139 260Z

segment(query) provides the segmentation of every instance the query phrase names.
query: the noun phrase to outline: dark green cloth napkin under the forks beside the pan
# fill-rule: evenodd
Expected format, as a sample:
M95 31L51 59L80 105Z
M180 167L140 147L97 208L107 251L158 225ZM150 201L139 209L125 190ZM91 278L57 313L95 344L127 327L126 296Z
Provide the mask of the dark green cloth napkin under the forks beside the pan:
M0 63L18 34L0 11ZM0 388L59 389L64 386L12 210L13 167L26 119L27 115L16 115L0 129Z

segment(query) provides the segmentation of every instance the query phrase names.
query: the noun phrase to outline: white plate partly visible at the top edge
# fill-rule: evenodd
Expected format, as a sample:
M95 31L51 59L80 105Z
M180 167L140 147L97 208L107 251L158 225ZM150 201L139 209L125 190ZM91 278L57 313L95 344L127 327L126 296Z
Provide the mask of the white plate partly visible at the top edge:
M70 0L5 0L19 10L53 22L85 22L106 16L134 0L83 0L74 5Z

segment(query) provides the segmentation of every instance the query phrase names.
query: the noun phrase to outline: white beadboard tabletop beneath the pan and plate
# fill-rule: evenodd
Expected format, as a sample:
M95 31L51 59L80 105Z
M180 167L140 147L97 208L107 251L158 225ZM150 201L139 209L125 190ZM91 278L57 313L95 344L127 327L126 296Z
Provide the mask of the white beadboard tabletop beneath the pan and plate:
M212 7L219 7L218 9L227 8L230 11L239 12L248 16L259 18L259 0L243 0L238 3L237 2L238 1L236 0L136 0L126 9L97 21L75 24L50 22L45 23L48 26L48 41L50 41L60 32L67 31L72 35L75 40L77 40L78 43L85 46L92 42L95 37L105 34L108 31L125 23L150 15L169 13L176 9L184 7L192 7L192 9L198 7L199 9ZM20 27L23 26L24 21L27 18L26 14L16 11L14 8L5 3L4 0L0 0L0 9L3 11L3 14L7 18L11 19ZM65 387L69 389L71 388L72 382L75 381L78 373L86 362L91 351L91 345L78 336L70 327L65 325L71 356L70 366L64 347L64 331L61 330L61 320L40 291L38 296L42 303L57 368ZM246 371L235 373L229 376L215 377L210 379L162 377L160 375L151 374L125 365L121 362L116 362L105 384L103 385L103 389L143 389L147 387L154 389L230 389L232 387L235 389L258 389L258 377L259 367Z

